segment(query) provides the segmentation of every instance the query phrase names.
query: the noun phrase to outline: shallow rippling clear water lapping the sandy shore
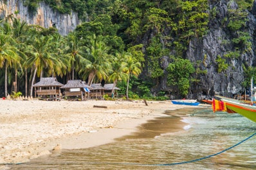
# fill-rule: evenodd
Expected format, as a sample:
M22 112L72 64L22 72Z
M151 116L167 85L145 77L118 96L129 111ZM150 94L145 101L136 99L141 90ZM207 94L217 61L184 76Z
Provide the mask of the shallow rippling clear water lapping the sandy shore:
M167 114L178 112L188 115L183 119L187 123L184 132L168 133L172 132L168 126L158 126L169 123L171 127L179 117L160 117L125 139L95 148L64 150L11 169L256 169L256 136L214 157L164 166L213 155L256 133L256 123L239 114L213 113L210 108ZM154 131L145 130L152 127Z

